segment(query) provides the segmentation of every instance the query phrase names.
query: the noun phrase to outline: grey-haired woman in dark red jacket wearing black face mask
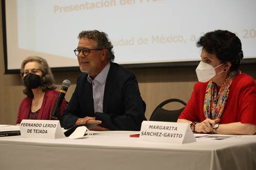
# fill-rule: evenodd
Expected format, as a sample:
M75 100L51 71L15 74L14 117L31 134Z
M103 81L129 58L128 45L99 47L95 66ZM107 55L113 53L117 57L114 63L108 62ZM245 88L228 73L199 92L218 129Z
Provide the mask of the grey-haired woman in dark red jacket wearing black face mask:
M23 92L27 95L19 106L17 125L23 119L51 119L51 112L58 97L53 75L47 61L41 57L27 57L20 69ZM66 101L60 106L60 114L66 109Z

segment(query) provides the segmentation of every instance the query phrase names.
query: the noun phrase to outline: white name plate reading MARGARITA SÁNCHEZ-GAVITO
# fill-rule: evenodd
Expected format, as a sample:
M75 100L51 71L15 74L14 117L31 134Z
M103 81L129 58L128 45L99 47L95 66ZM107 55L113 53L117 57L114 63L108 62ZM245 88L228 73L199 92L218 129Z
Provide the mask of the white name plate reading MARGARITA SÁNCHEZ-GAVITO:
M143 121L140 140L166 143L189 143L197 141L187 123Z

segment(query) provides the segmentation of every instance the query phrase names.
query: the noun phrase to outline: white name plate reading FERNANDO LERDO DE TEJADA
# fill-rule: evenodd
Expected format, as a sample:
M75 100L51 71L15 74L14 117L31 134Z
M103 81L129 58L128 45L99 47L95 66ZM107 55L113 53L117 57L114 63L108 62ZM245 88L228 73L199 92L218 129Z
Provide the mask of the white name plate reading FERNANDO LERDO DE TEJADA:
M27 120L19 125L21 137L56 139L65 137L59 120Z

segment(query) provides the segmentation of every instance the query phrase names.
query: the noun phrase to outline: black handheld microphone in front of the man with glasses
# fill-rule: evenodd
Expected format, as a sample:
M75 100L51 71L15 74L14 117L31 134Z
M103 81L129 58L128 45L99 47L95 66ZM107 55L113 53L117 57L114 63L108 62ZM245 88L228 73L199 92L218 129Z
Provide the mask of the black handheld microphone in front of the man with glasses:
M52 118L57 118L59 120L61 119L61 115L59 114L60 106L70 85L71 82L69 80L64 80L62 82L62 87L59 90L59 96L51 113Z

